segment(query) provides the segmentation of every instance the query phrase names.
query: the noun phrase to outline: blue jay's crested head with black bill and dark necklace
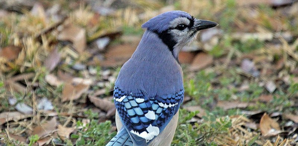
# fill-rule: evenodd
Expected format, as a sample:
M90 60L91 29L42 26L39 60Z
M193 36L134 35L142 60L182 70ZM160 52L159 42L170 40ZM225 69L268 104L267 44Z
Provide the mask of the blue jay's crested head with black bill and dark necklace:
M142 28L156 33L177 58L183 46L196 38L199 30L217 26L208 20L199 20L183 11L169 11L153 17Z

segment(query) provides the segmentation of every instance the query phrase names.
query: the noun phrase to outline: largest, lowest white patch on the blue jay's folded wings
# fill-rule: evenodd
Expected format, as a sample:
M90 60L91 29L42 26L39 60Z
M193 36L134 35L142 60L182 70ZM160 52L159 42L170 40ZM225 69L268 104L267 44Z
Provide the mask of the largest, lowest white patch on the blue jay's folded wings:
M146 141L149 141L151 139L153 139L154 136L157 136L159 134L159 128L156 126L152 126L151 124L149 125L149 127L146 128L146 130L148 131L143 131L142 133L136 132L134 130L131 130L130 132L132 134L135 134L139 137L144 138Z

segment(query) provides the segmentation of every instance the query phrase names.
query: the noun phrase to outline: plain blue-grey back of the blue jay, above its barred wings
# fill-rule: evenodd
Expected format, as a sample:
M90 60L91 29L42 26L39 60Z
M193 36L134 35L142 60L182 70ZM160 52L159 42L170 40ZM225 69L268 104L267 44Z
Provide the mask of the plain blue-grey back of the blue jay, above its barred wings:
M171 51L150 31L121 68L115 85L129 91L145 91L148 97L178 92L183 88L182 69Z

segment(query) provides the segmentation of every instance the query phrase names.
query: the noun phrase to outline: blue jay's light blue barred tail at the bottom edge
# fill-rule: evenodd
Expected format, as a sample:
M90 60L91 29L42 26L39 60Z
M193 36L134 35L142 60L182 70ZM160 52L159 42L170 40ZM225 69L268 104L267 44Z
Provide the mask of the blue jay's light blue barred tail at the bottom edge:
M127 130L122 127L115 137L105 146L133 146Z

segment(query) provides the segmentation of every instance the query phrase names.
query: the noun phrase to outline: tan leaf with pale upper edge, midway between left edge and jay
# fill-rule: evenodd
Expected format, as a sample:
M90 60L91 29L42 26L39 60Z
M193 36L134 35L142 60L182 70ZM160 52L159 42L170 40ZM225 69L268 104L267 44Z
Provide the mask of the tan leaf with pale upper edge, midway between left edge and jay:
M79 80L66 82L62 91L62 102L76 100L81 97L83 93L88 91L91 82L89 80Z

